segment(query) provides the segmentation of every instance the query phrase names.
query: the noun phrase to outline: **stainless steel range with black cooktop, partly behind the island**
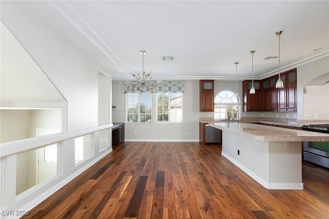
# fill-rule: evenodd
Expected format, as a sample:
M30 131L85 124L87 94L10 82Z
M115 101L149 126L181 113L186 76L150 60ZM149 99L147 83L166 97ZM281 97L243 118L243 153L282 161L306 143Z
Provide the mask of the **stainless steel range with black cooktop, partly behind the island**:
M302 129L329 134L329 124L303 125ZM304 160L329 168L329 142L304 141L303 148Z

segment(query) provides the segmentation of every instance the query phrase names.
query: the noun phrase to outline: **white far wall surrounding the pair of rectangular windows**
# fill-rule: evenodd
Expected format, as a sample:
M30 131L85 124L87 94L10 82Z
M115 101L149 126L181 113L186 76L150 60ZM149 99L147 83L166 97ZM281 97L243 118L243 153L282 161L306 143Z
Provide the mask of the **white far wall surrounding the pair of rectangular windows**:
M126 121L124 82L116 81L112 84L113 91L113 122ZM152 140L152 141L198 141L199 137L199 82L185 81L183 95L183 123L157 123L155 111L155 95L153 95L153 123L133 124L125 123L125 140ZM134 135L134 133L137 133ZM187 135L186 135L187 133Z

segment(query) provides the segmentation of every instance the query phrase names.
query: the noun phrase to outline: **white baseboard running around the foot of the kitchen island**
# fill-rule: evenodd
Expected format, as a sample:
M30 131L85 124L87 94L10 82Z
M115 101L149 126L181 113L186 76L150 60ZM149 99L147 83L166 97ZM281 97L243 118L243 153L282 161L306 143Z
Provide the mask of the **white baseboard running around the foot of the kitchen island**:
M248 174L251 178L257 181L260 185L265 187L266 189L287 189L287 190L303 190L304 184L303 183L285 183L285 182L268 182L265 181L263 178L259 177L257 174L253 173L251 170L243 166L240 162L237 162L231 156L226 154L222 151L222 155L230 160L234 165L239 167L243 172Z

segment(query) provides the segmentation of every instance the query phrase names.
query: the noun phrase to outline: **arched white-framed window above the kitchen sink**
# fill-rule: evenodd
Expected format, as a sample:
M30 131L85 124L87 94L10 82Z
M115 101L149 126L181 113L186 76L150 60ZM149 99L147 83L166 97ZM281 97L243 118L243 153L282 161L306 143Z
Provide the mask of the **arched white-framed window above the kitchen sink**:
M239 97L231 90L222 90L214 100L214 119L240 119L241 104Z

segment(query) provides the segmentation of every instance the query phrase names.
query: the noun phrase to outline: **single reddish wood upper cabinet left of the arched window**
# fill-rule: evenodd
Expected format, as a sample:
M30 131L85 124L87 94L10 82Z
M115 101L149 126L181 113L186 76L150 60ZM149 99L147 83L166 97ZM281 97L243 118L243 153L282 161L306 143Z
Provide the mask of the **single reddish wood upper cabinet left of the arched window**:
M214 111L214 80L200 80L200 112Z

